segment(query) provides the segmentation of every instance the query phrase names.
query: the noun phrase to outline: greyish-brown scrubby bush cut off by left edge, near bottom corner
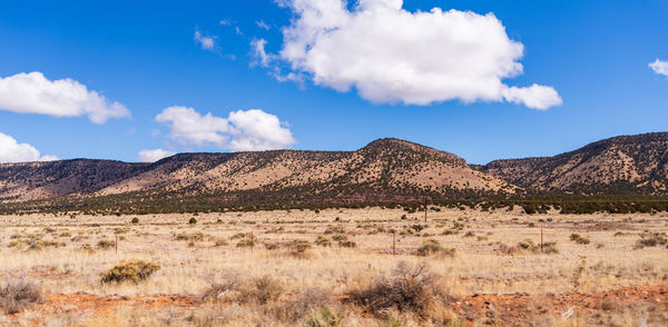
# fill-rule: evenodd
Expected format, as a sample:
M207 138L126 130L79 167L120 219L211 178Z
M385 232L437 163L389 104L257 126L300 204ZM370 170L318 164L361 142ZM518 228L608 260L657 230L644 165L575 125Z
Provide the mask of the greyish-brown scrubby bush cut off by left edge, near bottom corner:
M42 299L40 287L23 278L8 279L0 287L0 308L7 315L18 314Z

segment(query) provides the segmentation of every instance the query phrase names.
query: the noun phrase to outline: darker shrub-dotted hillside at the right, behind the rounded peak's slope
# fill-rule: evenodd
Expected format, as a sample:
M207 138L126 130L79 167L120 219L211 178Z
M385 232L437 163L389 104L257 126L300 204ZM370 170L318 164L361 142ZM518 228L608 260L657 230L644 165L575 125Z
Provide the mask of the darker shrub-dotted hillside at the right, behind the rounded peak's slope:
M664 194L668 132L615 137L554 157L497 160L480 170L544 191Z

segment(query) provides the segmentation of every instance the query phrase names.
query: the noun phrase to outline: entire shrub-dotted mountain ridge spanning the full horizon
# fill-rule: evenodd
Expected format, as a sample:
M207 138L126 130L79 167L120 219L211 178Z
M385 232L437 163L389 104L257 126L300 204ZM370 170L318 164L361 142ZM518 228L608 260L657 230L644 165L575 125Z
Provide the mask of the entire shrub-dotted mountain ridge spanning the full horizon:
M70 159L0 165L0 201L161 194L267 201L404 201L527 194L665 195L668 132L619 136L552 157L469 165L382 138L355 151L177 153L151 164Z

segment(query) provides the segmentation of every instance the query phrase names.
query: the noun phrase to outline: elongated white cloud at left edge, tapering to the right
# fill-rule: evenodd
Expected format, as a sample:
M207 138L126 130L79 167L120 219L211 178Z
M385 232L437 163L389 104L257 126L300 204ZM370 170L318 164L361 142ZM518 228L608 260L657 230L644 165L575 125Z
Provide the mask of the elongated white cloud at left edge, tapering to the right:
M86 115L95 123L130 115L125 106L109 101L76 80L51 81L39 71L0 77L0 109L57 117Z

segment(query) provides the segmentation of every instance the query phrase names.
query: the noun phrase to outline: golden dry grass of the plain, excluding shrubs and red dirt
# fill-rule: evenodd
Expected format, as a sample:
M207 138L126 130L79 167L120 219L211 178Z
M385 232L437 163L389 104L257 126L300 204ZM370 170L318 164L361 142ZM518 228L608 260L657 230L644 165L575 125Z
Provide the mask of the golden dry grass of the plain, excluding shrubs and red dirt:
M285 314L286 299L289 303L313 289L344 295L380 275L391 275L400 262L426 264L439 276L441 290L454 297L592 294L633 285L665 285L667 280L668 249L635 248L641 232L668 231L666 214L528 216L507 210L441 208L439 212L429 212L428 222L423 220L424 212L402 219L405 214L382 208L327 209L318 214L311 210L200 214L197 224L188 224L193 215L0 217L0 274L27 276L49 294L198 297L212 284L267 276L282 288L279 300L262 305L230 300L171 311L119 306L104 314L75 308L68 313L42 309L37 314L28 310L11 319L0 318L0 325L31 318L87 326L303 325L317 313L311 313L312 308L301 317ZM139 218L139 224L130 222L134 217ZM539 244L541 228L544 241L556 242L558 254L500 251L502 245L514 247L527 239ZM571 241L573 232L591 242ZM115 242L116 236L120 239L118 254L115 247L98 247L100 241ZM341 246L335 239L342 236L356 246ZM318 237L331 240L331 246L316 245ZM249 240L253 247L237 247ZM298 240L307 241L310 248L299 248L299 242L295 242ZM426 240L454 248L455 255L416 256L415 250ZM138 284L100 283L106 270L132 259L157 262L161 268ZM338 310L345 326L392 321L439 324L439 319L425 320L405 311L390 311L383 317L367 315L340 301L327 307ZM463 319L446 308L432 316L439 315L448 316L451 321ZM631 316L629 321L637 319Z

